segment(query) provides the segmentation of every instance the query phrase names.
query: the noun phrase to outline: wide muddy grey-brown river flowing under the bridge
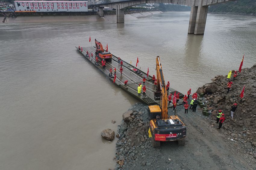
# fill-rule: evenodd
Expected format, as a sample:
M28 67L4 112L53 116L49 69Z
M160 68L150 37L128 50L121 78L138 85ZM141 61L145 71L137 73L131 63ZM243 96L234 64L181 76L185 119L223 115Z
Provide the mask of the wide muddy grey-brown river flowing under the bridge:
M150 75L159 55L166 81L183 93L238 70L243 54L243 67L256 63L256 17L208 14L205 34L195 36L187 34L189 14L132 14L124 24L115 16L0 24L0 169L114 168L115 141L100 132L117 132L122 113L138 101L76 51L91 46L89 36L132 64L139 57Z

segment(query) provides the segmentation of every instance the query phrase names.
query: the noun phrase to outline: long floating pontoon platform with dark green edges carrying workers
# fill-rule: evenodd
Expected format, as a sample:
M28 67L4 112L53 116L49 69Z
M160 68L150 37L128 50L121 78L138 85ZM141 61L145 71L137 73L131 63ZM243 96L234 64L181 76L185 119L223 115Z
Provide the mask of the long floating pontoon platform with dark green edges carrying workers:
M78 49L78 47L76 47ZM126 61L123 61L123 73L120 73L120 62L118 62L118 57L116 57L115 55L112 54L112 61L107 61L106 62L106 68L104 69L101 66L101 62L99 61L99 64L96 65L96 56L95 56L95 48L94 47L83 47L83 51L79 50L79 52L81 52L83 54L83 56L90 61L93 65L95 65L95 67L97 67L99 70L101 70L106 76L108 76L109 79L111 79L112 81L114 81L114 68L116 67L116 80L115 80L115 84L118 85L120 88L122 88L124 91L126 91L127 93L129 93L130 95L132 95L133 97L135 97L136 99L140 100L141 102L147 104L147 105L154 105L154 104L160 104L160 100L155 100L154 98L154 92L156 92L155 89L155 85L153 83L152 80L152 76L147 77L147 73L143 72L142 70L139 70L138 68L136 68L135 66L131 65L130 63L127 63ZM93 57L90 56L86 56L86 51L89 52L89 54L93 54ZM113 76L110 76L110 72L109 70L112 68L113 70ZM136 72L134 72L132 69L137 69L139 72L142 73L142 75L137 74ZM143 86L143 77L145 76L146 78L146 82L145 82L145 86L147 88L146 90L146 97L142 97L143 92L141 93L141 95L138 95L138 85L139 83L142 84ZM127 85L124 84L124 81L128 80ZM173 88L169 88L169 94L174 94L174 89ZM176 91L176 93L178 93L178 91ZM182 93L180 93L180 99L183 98L184 95ZM173 98L173 95L172 95ZM182 104L182 100L180 100L177 105ZM173 102L171 101L170 105L168 105L169 107L173 107Z

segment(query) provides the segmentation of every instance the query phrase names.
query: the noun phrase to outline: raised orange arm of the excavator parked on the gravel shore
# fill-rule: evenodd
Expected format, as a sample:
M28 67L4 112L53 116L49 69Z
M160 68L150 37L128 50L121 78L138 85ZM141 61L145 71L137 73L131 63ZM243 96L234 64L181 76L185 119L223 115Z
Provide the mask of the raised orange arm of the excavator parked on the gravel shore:
M160 93L161 115L162 115L162 119L167 119L168 118L167 91L166 91L164 74L163 74L159 56L157 56L156 58L156 73L157 73L157 93Z

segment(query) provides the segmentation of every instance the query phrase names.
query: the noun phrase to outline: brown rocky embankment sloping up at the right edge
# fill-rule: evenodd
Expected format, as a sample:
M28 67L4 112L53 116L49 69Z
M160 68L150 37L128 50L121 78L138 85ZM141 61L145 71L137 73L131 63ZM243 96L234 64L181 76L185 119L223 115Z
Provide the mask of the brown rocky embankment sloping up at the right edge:
M232 71L232 73L234 70ZM227 93L226 76L215 76L213 82L198 88L198 93L204 93L208 102L208 110L212 110L211 124L215 124L218 110L222 110L226 115L223 124L223 133L228 136L234 145L239 145L239 149L245 151L248 156L256 158L256 64L251 68L242 69L241 73L233 81L232 87ZM245 85L244 97L240 94ZM234 118L230 116L231 105L237 103Z

